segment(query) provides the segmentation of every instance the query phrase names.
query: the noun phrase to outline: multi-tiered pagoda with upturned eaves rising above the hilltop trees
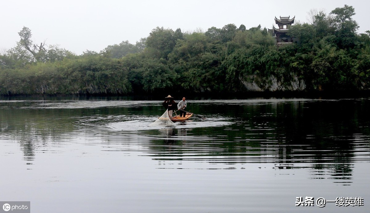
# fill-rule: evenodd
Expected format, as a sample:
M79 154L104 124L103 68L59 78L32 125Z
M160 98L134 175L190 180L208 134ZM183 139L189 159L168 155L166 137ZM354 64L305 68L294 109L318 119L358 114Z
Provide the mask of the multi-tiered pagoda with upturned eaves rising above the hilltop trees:
M276 39L276 45L292 44L296 41L295 37L291 37L286 34L289 31L290 26L294 23L294 18L295 16L292 19L290 19L290 16L280 16L280 19L277 19L275 16L275 23L279 28L272 26L272 29L268 29L268 31L272 37Z

